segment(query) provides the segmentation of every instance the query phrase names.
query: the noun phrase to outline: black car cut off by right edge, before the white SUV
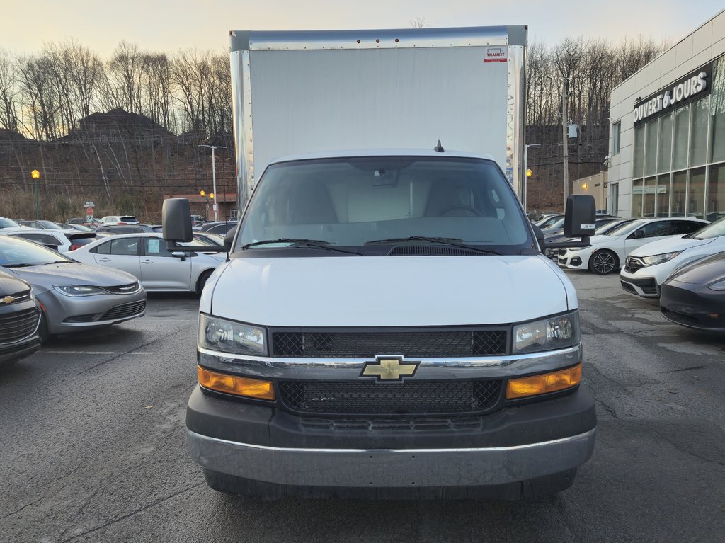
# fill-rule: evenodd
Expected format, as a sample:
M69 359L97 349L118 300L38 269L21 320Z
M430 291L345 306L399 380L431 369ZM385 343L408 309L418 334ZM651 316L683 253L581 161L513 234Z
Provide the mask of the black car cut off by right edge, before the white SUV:
M676 270L662 283L660 311L673 323L725 332L725 252Z

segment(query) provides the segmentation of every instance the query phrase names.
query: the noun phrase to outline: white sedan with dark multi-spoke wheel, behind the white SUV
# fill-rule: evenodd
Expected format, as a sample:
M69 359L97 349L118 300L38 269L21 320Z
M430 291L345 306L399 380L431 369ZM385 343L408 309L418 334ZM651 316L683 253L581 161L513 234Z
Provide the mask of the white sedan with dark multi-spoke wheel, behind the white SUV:
M627 255L642 245L682 236L700 230L708 224L692 217L663 217L638 219L624 223L602 236L592 236L587 247L559 249L558 263L571 270L587 270L601 275L621 268Z

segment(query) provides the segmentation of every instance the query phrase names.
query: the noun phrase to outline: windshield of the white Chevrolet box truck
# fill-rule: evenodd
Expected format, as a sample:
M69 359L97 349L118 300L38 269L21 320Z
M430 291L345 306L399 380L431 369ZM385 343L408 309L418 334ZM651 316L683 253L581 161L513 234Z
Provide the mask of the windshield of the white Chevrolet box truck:
M305 160L265 171L236 246L276 239L364 246L396 239L387 243L392 245L410 236L427 236L495 246L497 251L504 247L518 254L532 244L526 222L510 184L490 160Z

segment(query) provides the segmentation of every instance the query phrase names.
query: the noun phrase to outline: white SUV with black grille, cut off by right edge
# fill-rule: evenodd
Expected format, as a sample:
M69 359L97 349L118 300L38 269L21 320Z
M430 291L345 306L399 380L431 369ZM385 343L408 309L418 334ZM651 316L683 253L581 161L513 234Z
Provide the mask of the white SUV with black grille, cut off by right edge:
M725 251L725 217L687 236L654 241L634 249L619 275L621 286L643 298L659 298L662 283L676 269L722 251Z

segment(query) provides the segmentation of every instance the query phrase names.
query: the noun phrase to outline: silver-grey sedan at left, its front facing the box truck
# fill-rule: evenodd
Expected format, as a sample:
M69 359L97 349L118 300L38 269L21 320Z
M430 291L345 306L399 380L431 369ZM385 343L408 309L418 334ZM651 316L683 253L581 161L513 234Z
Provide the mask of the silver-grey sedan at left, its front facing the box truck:
M146 312L133 275L88 266L34 241L0 236L0 270L30 283L39 302L41 339L122 323Z

